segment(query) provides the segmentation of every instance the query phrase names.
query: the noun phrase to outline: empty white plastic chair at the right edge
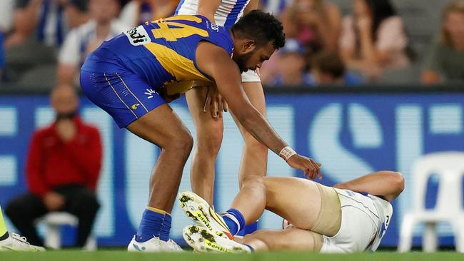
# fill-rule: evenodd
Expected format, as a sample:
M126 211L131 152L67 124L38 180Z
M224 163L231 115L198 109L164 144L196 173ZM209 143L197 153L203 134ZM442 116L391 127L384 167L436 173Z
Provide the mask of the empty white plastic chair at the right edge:
M437 203L434 209L425 209L425 192L430 175L440 178ZM434 252L438 246L436 225L448 222L453 227L458 252L464 252L464 211L462 202L462 178L464 176L464 153L430 153L413 165L413 210L403 218L400 229L399 252L411 249L413 231L418 223L425 224L423 250Z

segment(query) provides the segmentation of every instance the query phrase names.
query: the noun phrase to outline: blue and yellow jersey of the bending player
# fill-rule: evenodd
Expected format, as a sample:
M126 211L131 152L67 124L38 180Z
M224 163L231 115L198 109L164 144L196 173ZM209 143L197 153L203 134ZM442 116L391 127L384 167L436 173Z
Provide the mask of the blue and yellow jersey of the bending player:
M158 89L173 81L211 81L196 66L196 47L209 41L229 55L233 41L227 29L211 24L204 16L171 16L146 22L91 53L82 71L123 73L129 71Z

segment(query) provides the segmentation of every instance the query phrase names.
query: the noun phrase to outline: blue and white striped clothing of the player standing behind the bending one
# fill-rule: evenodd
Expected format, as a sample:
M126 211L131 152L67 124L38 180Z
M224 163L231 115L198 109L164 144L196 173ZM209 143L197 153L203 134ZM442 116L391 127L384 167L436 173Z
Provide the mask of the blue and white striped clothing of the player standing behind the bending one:
M243 16L243 11L250 0L221 0L218 10L214 14L216 24L231 28L238 19ZM198 0L182 0L176 9L177 14L196 14L198 11Z

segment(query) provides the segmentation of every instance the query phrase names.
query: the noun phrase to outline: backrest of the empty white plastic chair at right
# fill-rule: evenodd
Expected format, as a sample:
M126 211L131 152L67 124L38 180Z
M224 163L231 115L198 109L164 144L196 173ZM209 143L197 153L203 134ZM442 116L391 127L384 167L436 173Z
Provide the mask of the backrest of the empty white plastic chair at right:
M425 210L425 193L430 175L440 178L435 211L455 215L462 208L463 152L440 152L424 155L413 165L413 205L415 211Z

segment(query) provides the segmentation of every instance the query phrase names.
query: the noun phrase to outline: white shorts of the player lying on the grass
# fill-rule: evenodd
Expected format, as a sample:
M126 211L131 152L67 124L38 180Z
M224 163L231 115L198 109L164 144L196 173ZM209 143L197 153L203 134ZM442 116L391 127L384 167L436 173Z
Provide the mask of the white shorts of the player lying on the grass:
M368 196L351 190L335 190L341 204L341 227L333 237L323 235L321 252L362 252L380 227L377 208Z

